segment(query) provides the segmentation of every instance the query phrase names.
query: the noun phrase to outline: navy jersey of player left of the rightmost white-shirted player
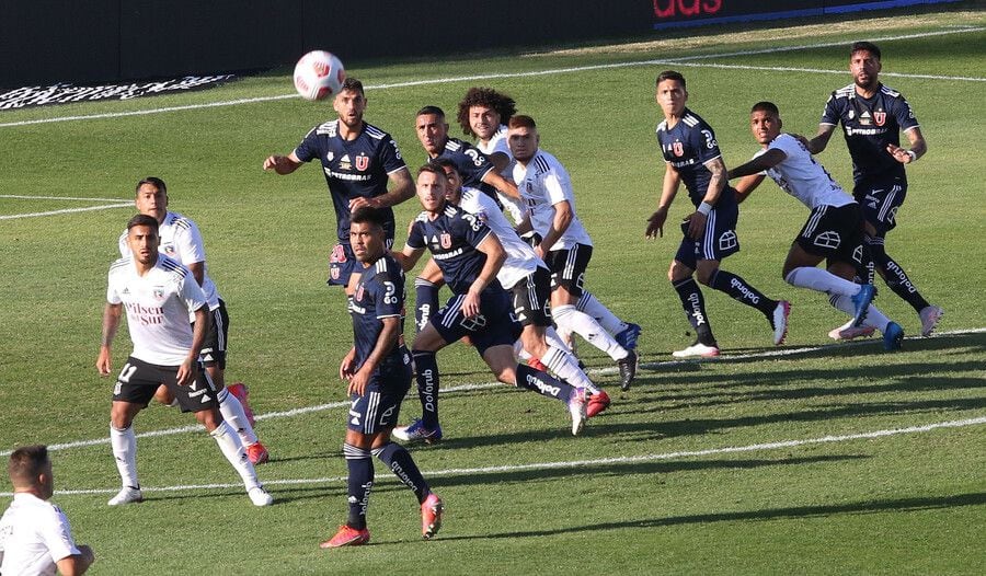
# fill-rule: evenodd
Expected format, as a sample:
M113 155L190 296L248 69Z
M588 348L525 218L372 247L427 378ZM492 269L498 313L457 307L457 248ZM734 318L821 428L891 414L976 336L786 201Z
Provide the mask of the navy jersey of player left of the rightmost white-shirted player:
M674 128L667 127L667 120L657 125L657 145L664 160L675 166L688 189L691 204L698 207L709 191L712 172L706 162L722 155L715 133L698 114L685 108L681 118ZM716 206L726 207L735 204L735 193L727 186L720 195Z

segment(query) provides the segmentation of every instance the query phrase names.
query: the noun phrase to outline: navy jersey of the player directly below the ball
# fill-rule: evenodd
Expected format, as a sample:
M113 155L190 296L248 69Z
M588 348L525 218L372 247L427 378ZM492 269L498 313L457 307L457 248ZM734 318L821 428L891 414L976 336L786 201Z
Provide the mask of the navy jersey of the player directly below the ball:
M339 135L337 119L312 128L295 148L295 155L302 162L321 160L343 244L349 243L349 200L387 194L389 174L408 168L389 134L364 123L355 140L345 140ZM393 240L393 210L381 209L388 218L387 238Z

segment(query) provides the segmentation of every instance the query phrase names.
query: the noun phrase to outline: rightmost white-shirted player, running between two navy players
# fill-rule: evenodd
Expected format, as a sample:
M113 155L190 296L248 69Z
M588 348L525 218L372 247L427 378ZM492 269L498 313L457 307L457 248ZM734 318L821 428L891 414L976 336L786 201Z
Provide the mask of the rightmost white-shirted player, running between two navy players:
M859 204L836 183L812 158L804 145L789 134L781 134L777 106L758 102L750 111L750 129L763 150L753 160L730 171L730 178L744 177L736 185L743 201L766 176L811 210L788 257L784 280L801 288L828 293L832 304L852 315L853 325L874 326L883 333L884 348L897 349L904 331L872 306L871 284L856 284L852 278L868 260L863 249L862 214ZM816 266L828 261L828 269Z

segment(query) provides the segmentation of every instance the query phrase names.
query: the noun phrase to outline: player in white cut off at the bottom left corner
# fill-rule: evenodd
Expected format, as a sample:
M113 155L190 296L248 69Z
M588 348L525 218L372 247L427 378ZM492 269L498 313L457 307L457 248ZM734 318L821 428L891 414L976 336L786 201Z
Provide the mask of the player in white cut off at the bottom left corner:
M7 471L14 498L0 519L0 574L54 576L84 574L95 556L72 538L68 518L48 502L55 494L45 446L24 446L10 454Z

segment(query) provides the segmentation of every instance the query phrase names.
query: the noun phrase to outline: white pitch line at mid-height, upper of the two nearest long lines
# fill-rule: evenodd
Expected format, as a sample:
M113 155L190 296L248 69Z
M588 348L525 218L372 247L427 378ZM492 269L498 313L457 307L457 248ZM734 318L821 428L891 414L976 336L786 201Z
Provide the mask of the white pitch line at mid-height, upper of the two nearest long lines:
M961 336L965 334L982 334L986 332L986 327L984 329L968 329L968 330L954 330L949 332L937 333L931 337L942 337L942 336ZM646 368L650 370L655 370L660 368L669 368L675 366L684 366L684 365L692 365L697 362L729 362L730 360L749 360L757 358L778 358L783 356L794 356L798 354L806 354L813 352L819 352L824 349L838 349L838 348L847 348L852 346L860 346L865 344L873 344L875 339L865 339L865 341L856 341L856 342L841 342L841 343L833 343L833 344L824 344L819 346L806 346L802 348L790 348L790 349L780 349L780 350L766 350L760 353L750 353L750 354L736 354L736 355L725 355L720 356L719 358L712 359L690 359L690 360L666 360L660 362L644 362L641 364L641 368ZM598 375L608 375L616 372L616 368L598 368L592 370L593 373ZM474 390L489 390L493 388L503 388L506 384L502 382L483 382L475 384L461 384L461 385L452 385L448 388L442 389L444 394L454 393L454 392L471 392ZM290 418L295 416L300 416L302 414L310 414L314 412L324 412L326 410L333 408L343 408L349 405L348 401L341 402L330 402L328 404L317 404L314 406L302 406L300 408L293 408L283 412L268 412L265 414L259 414L256 419L266 421L274 418ZM200 433L204 428L198 425L190 425L190 426L179 426L175 428L164 428L160 430L150 430L146 433L140 433L137 435L137 438L154 438L160 436L174 436L175 434L185 434L185 433ZM91 446L100 446L110 443L110 438L95 438L92 440L76 440L72 442L65 443L53 443L48 446L49 451L56 450L68 450L71 448L88 448ZM12 450L3 450L0 451L0 458L10 456Z

